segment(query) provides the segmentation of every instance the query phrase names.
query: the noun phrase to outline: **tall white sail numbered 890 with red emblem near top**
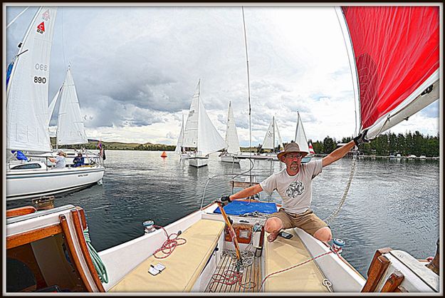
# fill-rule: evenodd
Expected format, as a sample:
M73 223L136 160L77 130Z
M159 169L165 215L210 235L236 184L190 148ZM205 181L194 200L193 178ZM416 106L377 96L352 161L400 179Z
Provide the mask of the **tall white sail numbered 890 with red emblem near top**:
M6 148L51 151L48 85L56 7L41 7L17 53L6 91Z

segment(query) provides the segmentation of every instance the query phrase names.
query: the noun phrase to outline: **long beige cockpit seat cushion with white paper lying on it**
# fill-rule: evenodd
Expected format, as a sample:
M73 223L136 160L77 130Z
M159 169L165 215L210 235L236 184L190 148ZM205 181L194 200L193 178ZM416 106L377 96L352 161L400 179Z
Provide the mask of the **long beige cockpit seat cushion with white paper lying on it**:
M165 259L147 258L110 292L190 292L218 244L224 225L216 220L199 220L179 236L187 240L186 244L176 247ZM150 264L159 262L165 269L155 276L148 273Z

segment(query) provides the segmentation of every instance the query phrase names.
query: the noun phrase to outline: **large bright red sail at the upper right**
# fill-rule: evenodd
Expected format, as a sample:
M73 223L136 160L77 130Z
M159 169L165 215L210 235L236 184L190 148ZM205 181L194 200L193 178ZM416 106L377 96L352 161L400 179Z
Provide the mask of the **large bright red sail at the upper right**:
M362 129L439 68L439 6L342 7L355 53Z

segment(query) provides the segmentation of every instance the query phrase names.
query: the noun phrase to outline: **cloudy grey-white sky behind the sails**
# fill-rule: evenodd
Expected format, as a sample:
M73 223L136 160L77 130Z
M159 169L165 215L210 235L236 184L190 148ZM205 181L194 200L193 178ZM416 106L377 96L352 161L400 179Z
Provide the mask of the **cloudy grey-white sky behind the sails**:
M25 8L7 6L6 24ZM36 11L30 7L7 29L6 61ZM245 6L244 14L253 145L263 143L273 116L283 140L293 140L297 111L310 139L352 136L354 95L335 9ZM70 63L88 138L174 145L200 78L216 129L224 137L231 101L246 146L245 51L241 6L59 6L48 97ZM391 131L408 130L436 135L439 102Z

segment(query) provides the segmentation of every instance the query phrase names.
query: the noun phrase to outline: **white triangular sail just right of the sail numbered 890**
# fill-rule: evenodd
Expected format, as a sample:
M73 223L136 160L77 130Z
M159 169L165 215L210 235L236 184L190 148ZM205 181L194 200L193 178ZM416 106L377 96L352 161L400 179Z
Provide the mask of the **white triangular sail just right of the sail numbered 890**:
M78 96L75 91L70 68L66 71L61 91L61 103L58 111L57 144L72 145L88 143L85 133Z

